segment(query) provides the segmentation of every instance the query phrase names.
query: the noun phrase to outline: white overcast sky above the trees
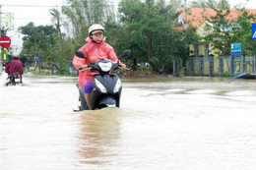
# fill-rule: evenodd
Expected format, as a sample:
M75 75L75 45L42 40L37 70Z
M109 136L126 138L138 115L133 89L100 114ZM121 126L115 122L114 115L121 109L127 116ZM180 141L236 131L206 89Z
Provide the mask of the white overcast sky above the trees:
M116 5L118 0L109 0ZM192 0L187 0L187 2ZM256 0L228 0L231 7L237 4L243 4L246 8L256 9ZM26 26L30 22L35 26L50 25L49 9L56 6L64 5L66 0L0 0L2 5L2 13L12 12L14 13L14 28L17 30L21 26ZM5 14L2 14L2 17ZM12 36L12 45L16 45L20 48L21 35L17 31L10 31L9 36ZM18 45L17 45L18 44Z

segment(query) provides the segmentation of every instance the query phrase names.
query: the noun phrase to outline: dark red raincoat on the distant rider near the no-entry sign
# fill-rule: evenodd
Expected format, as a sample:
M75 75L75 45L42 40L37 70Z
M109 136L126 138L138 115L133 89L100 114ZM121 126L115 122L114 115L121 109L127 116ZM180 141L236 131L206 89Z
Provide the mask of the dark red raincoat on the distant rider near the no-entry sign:
M19 72L21 75L24 73L25 65L19 60L18 57L14 57L13 60L11 60L9 63L6 63L4 66L5 72L11 74L12 76L15 72Z

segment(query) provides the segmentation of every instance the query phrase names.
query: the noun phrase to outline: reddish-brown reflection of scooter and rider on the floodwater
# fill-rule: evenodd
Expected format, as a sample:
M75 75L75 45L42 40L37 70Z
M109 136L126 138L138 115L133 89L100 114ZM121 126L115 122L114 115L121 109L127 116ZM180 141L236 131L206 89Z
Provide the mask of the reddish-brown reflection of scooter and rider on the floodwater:
M80 164L105 164L110 162L107 157L116 156L111 147L118 145L122 114L119 109L113 108L84 111L81 115L81 134L78 136Z

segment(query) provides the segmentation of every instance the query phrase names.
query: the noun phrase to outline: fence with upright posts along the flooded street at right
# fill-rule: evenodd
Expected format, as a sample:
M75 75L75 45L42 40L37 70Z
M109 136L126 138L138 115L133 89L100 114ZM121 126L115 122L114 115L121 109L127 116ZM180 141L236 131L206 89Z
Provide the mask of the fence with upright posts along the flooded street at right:
M251 74L256 73L256 55L191 57L186 67L189 76Z

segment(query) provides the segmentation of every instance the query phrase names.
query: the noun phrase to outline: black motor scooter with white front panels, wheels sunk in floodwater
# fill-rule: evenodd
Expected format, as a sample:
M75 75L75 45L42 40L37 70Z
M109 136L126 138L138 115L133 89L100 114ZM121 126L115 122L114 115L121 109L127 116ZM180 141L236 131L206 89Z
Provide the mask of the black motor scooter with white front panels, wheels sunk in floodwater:
M77 51L76 55L83 59L88 59L82 51ZM120 57L130 56L130 50L124 50ZM120 68L119 60L118 62L113 62L109 59L100 59L96 63L89 62L87 69L80 70L83 72L85 70L91 70L91 72L98 72L94 77L93 81L95 88L91 93L91 103L92 109L101 109L104 107L119 107L120 106L120 96L122 91L122 85L119 77L115 74L111 74L111 71ZM86 102L85 93L82 87L76 84L79 89L79 110L82 111L89 110L88 104Z

